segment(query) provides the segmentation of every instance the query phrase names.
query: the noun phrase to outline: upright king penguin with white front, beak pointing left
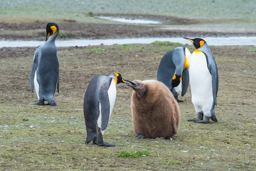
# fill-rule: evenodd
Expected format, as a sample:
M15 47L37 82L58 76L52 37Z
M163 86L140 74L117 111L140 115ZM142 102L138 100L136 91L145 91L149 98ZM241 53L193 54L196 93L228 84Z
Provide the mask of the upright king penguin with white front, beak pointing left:
M218 69L208 44L201 38L189 40L195 46L189 64L191 101L198 118L189 119L195 123L218 122L214 107L217 106ZM203 116L205 116L203 120Z

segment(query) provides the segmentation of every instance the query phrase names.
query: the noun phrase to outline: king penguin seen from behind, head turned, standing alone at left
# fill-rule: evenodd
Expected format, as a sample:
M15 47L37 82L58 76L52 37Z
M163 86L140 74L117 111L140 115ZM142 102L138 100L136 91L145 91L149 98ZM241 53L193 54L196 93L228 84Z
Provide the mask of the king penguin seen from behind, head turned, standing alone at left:
M54 94L58 91L58 53L55 39L59 29L55 23L46 26L46 42L36 48L34 62L30 73L30 88L34 88L38 97L37 105L50 104L56 106ZM58 91L59 92L59 91ZM48 103L45 103L48 101Z

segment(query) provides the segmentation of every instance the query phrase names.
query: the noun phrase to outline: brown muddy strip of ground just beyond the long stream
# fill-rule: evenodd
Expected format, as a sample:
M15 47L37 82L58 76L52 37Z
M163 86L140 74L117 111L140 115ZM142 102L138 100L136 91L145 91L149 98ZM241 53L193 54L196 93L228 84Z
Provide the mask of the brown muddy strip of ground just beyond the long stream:
M101 14L108 16L107 14ZM60 28L61 39L106 39L127 37L216 37L216 36L255 36L255 30L216 27L206 28L197 24L227 24L239 20L187 19L162 15L111 15L129 19L161 21L160 25L138 25L113 22L112 24L84 23L76 20L53 20ZM0 21L0 39L44 40L45 27L49 21L42 20L7 20ZM234 28L232 28L234 27Z

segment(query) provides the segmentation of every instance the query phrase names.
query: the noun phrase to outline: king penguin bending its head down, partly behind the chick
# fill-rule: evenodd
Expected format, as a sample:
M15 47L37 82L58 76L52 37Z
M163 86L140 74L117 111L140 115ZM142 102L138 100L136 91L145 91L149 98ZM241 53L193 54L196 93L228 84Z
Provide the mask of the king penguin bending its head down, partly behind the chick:
M164 83L173 93L177 102L178 95L186 94L189 86L189 60L191 53L188 48L177 47L167 52L161 59L157 70L157 80Z

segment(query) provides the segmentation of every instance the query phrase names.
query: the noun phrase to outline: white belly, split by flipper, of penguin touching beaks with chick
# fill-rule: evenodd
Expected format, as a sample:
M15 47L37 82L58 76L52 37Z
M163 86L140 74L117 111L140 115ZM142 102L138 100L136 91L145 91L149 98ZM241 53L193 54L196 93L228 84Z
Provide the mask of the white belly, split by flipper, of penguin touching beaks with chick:
M111 116L112 110L115 105L116 101L116 95L117 95L117 89L116 89L116 83L114 80L111 81L110 87L108 88L108 99L109 99L109 105L110 105L110 110L109 110L109 118ZM98 127L101 128L101 103L99 103L99 118L97 120ZM105 129L101 130L101 134L104 135Z

